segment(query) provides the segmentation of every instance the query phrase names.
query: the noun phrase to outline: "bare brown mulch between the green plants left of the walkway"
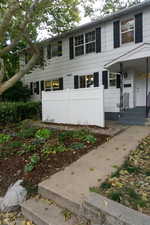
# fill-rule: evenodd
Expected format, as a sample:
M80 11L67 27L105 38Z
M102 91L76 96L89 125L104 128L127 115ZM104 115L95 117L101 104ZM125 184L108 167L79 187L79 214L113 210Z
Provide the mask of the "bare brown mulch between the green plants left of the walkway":
M41 128L40 128L41 129ZM0 125L0 134L11 135L11 141L9 144L20 141L22 144L32 144L35 137L22 138L16 135L19 132L18 124L13 125ZM57 135L63 131L56 131ZM25 152L19 155L18 152L22 150L22 146L19 147L7 147L7 144L0 144L0 196L3 196L10 184L13 184L18 179L24 180L24 185L32 195L36 192L37 184L52 174L64 169L72 162L79 159L82 155L88 153L98 145L103 144L108 140L107 135L93 134L96 138L96 142L86 143L83 149L68 150L64 152L57 152L55 154L49 154L47 157L43 157L41 149L43 144L38 144L34 153L37 153L40 157L39 163L31 172L25 172L25 165L28 163L29 158L33 155L33 152ZM55 138L54 138L55 139ZM71 139L64 143L66 146L71 145ZM74 140L78 142L79 140ZM3 153L6 152L6 155Z

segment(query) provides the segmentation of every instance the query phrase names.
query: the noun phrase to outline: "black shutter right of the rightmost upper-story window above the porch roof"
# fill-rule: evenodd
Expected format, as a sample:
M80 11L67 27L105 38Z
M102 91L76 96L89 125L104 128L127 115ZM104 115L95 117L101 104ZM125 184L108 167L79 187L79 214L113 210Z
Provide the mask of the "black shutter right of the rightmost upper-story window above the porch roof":
M135 43L143 41L143 15L135 15Z

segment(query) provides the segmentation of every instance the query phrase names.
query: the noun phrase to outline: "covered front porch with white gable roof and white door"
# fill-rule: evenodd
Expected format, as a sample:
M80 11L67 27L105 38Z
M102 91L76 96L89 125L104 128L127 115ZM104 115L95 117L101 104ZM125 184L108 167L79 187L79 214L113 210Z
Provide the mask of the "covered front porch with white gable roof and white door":
M144 43L105 65L120 75L120 112L142 112L149 117L150 44Z

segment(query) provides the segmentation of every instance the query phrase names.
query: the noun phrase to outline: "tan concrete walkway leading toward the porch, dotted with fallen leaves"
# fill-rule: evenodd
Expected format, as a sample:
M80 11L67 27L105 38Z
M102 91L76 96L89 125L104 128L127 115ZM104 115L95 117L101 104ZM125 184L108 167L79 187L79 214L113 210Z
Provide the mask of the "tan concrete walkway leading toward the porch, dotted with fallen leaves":
M107 176L114 172L114 166L120 166L130 151L135 149L141 139L149 134L149 127L127 128L109 142L42 182L39 185L39 192L63 207L68 207L67 201L78 207L88 197L89 188L100 185ZM71 205L69 207L71 210Z

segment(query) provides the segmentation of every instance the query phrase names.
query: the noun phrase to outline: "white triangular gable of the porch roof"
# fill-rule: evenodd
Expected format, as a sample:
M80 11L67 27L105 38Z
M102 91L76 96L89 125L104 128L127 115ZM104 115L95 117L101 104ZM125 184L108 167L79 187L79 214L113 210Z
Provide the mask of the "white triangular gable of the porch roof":
M105 64L104 67L105 69L111 69L112 66L119 66L121 62L144 59L147 57L150 57L150 43L143 43L138 45L138 47L133 48L121 56L111 60L109 63Z

